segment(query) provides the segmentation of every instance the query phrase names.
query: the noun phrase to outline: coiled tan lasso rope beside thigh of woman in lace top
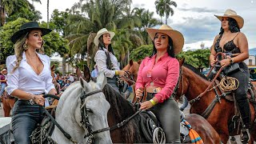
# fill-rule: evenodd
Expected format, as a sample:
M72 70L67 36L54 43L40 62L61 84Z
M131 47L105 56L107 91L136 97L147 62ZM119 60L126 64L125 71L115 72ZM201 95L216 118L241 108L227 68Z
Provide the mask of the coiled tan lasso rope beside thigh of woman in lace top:
M237 78L225 77L225 78L222 78L220 82L220 88L225 91L237 90L238 86L239 86L239 81Z

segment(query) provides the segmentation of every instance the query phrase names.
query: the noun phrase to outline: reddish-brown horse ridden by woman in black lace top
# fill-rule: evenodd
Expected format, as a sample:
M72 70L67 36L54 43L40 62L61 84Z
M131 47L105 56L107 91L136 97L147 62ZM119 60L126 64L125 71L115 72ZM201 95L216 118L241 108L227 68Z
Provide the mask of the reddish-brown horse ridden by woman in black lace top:
M179 78L178 91L176 98L179 98L181 95L185 94L186 98L191 101L194 98L197 98L198 95L202 94L206 88L210 85L210 82L207 78L201 74L196 68L190 65L183 66L184 60L180 61L181 66L181 76ZM218 91L218 94L221 94ZM203 94L201 98L191 103L190 113L194 114L203 114L211 102L214 101L216 94L214 90L208 90L206 94ZM256 141L256 124L255 119L255 110L253 103L250 103L250 112L251 112L251 129L250 129L250 143ZM226 100L226 98L221 98L220 102L217 102L213 110L210 112L210 115L206 118L208 122L214 127L214 129L220 134L222 142L226 143L229 139L229 136L237 135L229 132L230 122L234 116L234 102ZM233 124L234 126L234 124ZM237 126L238 127L238 126ZM237 129L237 128L236 128ZM233 130L238 131L238 130ZM239 130L240 132L240 130Z

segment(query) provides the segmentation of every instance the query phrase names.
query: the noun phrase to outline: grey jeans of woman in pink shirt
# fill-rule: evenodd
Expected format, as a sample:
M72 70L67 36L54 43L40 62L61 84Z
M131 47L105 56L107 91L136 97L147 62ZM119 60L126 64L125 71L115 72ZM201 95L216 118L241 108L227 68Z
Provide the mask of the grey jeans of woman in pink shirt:
M148 93L146 100L150 100L154 94ZM166 143L180 142L180 113L178 103L173 97L158 103L150 110L156 115L161 122L162 129L166 133Z

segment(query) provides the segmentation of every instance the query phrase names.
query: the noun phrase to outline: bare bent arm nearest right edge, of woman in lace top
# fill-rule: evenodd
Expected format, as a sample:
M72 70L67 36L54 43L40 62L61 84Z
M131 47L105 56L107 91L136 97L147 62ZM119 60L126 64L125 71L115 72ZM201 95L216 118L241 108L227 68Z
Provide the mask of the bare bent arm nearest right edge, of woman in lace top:
M232 58L233 62L242 62L249 58L249 50L248 50L248 42L246 35L240 32L238 34L238 48L240 50L240 54L238 56Z

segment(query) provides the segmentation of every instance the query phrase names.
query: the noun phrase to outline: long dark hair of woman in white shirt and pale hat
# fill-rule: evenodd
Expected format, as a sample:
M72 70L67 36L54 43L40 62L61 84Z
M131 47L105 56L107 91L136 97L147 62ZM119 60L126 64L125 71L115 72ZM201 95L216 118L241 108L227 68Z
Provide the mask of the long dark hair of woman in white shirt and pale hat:
M104 42L103 42L103 34L98 38L98 49L99 50L103 50L103 48L106 48ZM111 46L111 44L108 46L107 49L110 53L114 54L114 50ZM112 69L112 62L110 59L110 53L109 52L105 52L106 53L106 67L107 69L111 70Z

